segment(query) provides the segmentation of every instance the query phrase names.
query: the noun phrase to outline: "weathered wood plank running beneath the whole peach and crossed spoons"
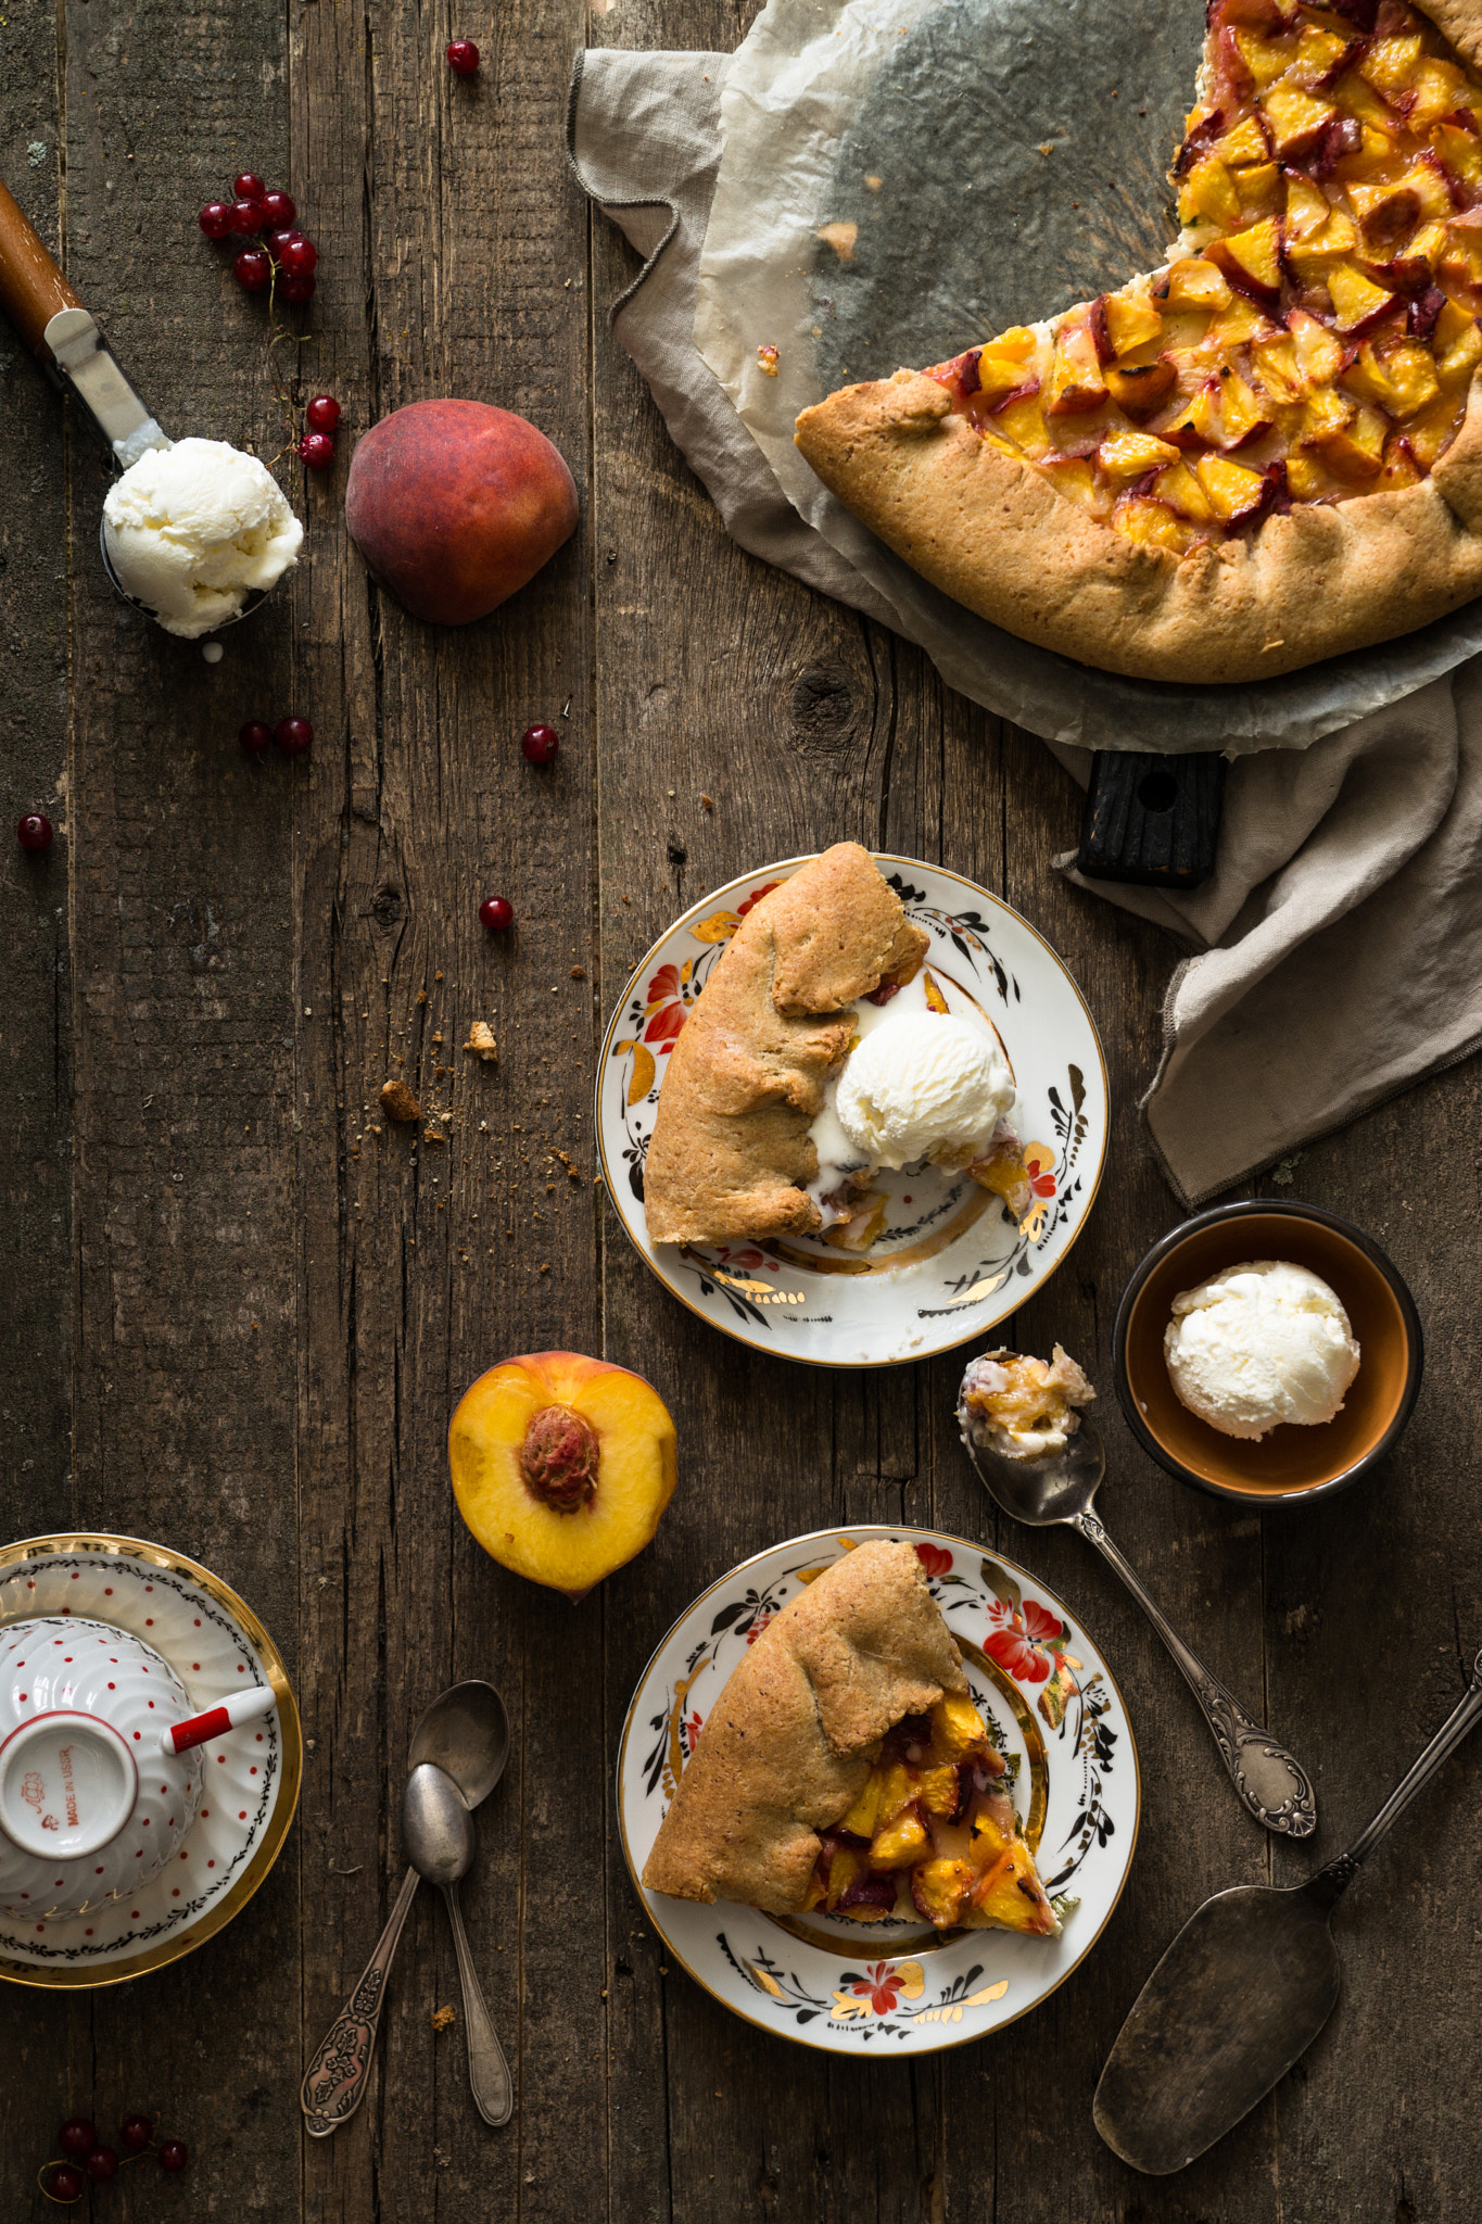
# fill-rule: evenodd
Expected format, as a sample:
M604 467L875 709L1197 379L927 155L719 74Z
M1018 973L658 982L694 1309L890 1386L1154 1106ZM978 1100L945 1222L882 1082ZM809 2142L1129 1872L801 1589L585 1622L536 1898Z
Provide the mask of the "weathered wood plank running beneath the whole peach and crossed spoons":
M542 153L560 145L580 20L504 13L469 82L449 73L444 36L395 4L364 22L307 7L296 24L296 145L336 242L320 316L347 405L342 449L402 403L460 394L531 416L582 485L587 214ZM300 827L296 923L300 1003L327 1014L300 1039L302 1586L318 1732L304 2044L318 2044L400 1884L415 1715L444 1684L489 1677L513 1755L480 1815L464 1899L533 2106L509 2133L478 2119L462 2008L447 2035L431 2028L433 2008L458 2004L458 1979L444 1915L422 1895L375 2093L309 2151L307 2213L362 2224L429 2200L447 2215L544 2217L571 2200L600 2213L602 1979L582 1877L607 1784L598 1712L573 1712L571 1692L600 1679L604 1606L571 1608L495 1568L453 1510L444 1448L458 1394L487 1366L600 1346L587 536L504 612L447 632L369 587L338 532L340 487L298 605L300 656L333 734ZM547 774L518 749L535 718L564 736ZM515 907L507 936L478 923L495 890ZM491 1021L498 1068L462 1054L473 1019ZM378 1110L393 1074L422 1103L415 1130Z

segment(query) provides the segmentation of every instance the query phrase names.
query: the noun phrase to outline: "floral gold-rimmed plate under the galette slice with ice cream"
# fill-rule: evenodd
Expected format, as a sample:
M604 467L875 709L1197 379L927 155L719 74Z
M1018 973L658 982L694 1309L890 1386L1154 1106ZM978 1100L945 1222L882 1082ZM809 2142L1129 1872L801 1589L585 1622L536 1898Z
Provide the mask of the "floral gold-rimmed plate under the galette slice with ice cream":
M813 1366L898 1366L982 1339L1055 1272L1102 1179L1107 1065L1080 990L1029 921L955 872L875 854L931 936L940 1007L987 1016L1004 1048L1033 1203L1015 1223L967 1174L882 1172L887 1221L862 1257L824 1237L651 1243L642 1181L669 1052L747 912L807 863L762 865L704 896L635 967L598 1061L602 1176L642 1259L713 1328Z

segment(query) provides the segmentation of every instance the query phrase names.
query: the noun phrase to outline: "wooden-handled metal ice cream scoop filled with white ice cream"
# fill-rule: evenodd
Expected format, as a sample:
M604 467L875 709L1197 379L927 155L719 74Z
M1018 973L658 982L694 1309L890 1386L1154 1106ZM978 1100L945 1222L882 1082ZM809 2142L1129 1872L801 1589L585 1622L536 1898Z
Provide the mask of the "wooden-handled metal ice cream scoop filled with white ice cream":
M2 185L0 302L118 463L122 476L102 505L98 540L124 603L182 641L256 609L298 560L304 538L278 480L227 440L171 440L162 431Z

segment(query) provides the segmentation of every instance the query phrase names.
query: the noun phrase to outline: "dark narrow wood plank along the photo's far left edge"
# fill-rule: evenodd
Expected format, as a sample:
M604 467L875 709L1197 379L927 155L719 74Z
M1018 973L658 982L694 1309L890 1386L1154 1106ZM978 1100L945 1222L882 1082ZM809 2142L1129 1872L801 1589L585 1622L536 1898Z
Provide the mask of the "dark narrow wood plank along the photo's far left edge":
M0 178L58 247L56 24L11 20L0 67ZM60 396L0 322L0 903L7 919L4 1221L0 1283L0 1532L71 1523L71 947L67 778L67 431ZM27 856L22 812L58 836ZM87 2006L0 1988L0 2213L29 2208L36 2124L71 2102L87 2062ZM62 2117L58 2115L58 2122ZM47 2124L40 2137L56 2126Z

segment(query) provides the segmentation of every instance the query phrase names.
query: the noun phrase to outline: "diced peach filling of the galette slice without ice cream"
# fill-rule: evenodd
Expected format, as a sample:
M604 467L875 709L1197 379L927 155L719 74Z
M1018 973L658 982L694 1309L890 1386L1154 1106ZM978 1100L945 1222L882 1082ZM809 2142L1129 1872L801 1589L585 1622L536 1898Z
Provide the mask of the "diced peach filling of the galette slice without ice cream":
M964 1695L898 1721L860 1797L820 1839L809 1908L855 1922L915 1910L938 1930L1060 1930L1004 1761Z

